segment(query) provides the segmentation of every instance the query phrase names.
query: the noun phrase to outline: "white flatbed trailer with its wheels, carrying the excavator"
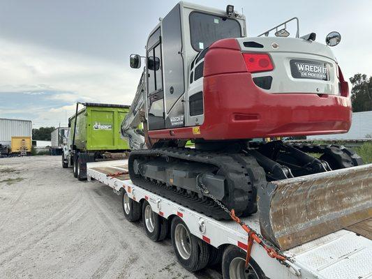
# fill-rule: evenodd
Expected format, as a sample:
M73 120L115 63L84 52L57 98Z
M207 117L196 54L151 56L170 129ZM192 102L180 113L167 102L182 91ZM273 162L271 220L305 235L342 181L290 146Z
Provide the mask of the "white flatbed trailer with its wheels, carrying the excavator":
M352 227L282 251L287 257L282 262L255 242L246 269L248 235L234 221L214 220L135 186L127 174L127 160L87 163L87 177L121 195L124 216L130 221L142 217L151 240L165 239L170 229L177 259L188 270L221 261L223 278L372 278L372 241ZM258 214L242 221L260 232ZM365 222L371 235L371 219Z

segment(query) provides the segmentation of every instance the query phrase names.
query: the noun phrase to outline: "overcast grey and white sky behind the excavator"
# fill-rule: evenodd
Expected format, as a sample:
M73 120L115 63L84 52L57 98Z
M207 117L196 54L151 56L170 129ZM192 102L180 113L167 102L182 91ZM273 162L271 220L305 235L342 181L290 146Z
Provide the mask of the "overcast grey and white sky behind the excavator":
M193 0L191 0L193 1ZM297 16L300 33L333 48L346 77L372 75L372 1L193 1L246 15L248 36ZM0 0L0 117L31 119L34 127L66 125L77 100L131 104L149 31L177 1Z

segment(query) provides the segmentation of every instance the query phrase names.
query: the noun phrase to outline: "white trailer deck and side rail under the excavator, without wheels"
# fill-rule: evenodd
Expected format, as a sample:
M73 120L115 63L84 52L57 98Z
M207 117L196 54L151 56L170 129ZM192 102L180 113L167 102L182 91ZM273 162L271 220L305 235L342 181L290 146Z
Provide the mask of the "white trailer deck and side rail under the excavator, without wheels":
M108 174L108 175L107 175ZM164 218L179 216L188 226L191 234L211 246L235 245L246 250L247 234L234 221L217 221L201 213L180 206L169 199L135 186L127 174L127 160L87 163L88 180L95 179L110 186L120 195L125 190L136 202L147 200L154 212ZM256 232L260 232L258 214L242 218ZM371 233L365 222L362 230ZM360 227L358 227L360 231ZM283 251L289 260L281 264L272 259L258 244L254 243L251 256L258 263L267 278L372 278L372 241L352 232L341 229L320 239Z

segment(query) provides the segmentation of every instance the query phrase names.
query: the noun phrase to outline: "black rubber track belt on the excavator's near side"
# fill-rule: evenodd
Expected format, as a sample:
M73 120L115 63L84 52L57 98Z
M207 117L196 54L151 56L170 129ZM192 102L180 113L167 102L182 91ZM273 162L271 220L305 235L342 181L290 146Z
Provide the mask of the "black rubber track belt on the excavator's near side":
M247 216L257 211L256 190L252 184L255 183L258 186L259 183L264 183L265 180L262 181L262 178L265 179L265 172L262 167L255 162L254 158L245 156L242 153L212 153L177 147L132 151L131 156L169 156L182 160L216 165L222 170L226 179L232 181L235 187L233 193L234 197L239 198L240 203L244 204L245 209L240 213ZM253 169L246 169L247 167ZM228 213L223 211L209 198L200 199L198 195L191 196L186 191L177 190L173 186L166 186L165 183L149 181L142 177L139 178L134 172L131 173L131 167L129 168L129 174L135 185L140 185L142 188L156 195L161 195L162 197L170 199L172 202L181 204L188 209L197 211L216 220L230 219ZM250 193L248 193L248 191ZM242 202L241 197L246 197L246 200Z

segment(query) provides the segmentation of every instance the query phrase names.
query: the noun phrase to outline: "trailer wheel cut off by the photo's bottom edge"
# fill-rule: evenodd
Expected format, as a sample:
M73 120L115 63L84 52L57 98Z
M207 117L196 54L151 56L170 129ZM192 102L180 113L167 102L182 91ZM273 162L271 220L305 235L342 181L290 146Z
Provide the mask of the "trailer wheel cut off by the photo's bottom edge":
M246 269L246 252L230 245L223 252L222 275L225 279L265 279L260 266L251 258Z

